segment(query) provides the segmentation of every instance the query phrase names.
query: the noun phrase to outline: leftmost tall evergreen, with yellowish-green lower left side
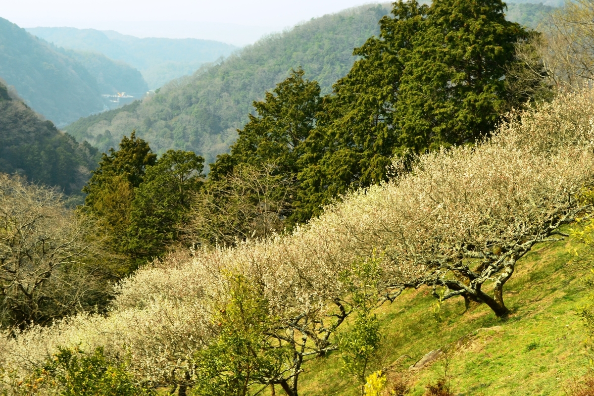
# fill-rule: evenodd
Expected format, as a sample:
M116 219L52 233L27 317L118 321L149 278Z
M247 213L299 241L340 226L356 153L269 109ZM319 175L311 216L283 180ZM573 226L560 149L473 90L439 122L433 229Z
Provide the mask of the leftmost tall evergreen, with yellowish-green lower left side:
M99 219L97 232L105 237L108 249L124 253L127 249L129 225L134 190L144 180L146 169L157 162L149 144L135 136L124 136L119 150L113 148L103 153L99 166L84 186L87 194L83 210Z

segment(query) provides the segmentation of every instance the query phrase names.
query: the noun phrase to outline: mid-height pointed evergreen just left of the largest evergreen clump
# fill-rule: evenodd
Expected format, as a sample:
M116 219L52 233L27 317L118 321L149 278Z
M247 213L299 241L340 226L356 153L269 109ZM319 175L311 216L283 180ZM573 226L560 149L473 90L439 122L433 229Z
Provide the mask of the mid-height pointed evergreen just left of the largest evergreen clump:
M253 103L257 116L249 115L244 129L238 129L231 153L218 156L211 164L208 183L221 183L224 176L233 175L235 167L250 165L261 170L273 166L271 176L282 176L289 188L296 185L302 143L315 126L321 102L320 85L303 76L303 69L292 70L285 81L266 93L263 102Z

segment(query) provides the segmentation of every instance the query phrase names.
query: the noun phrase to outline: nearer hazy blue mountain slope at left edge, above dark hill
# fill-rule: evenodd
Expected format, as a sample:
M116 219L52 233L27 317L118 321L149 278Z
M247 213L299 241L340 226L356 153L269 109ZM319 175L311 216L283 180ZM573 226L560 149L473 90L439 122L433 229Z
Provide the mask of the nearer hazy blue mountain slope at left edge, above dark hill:
M0 78L58 125L103 109L96 80L83 65L2 18Z

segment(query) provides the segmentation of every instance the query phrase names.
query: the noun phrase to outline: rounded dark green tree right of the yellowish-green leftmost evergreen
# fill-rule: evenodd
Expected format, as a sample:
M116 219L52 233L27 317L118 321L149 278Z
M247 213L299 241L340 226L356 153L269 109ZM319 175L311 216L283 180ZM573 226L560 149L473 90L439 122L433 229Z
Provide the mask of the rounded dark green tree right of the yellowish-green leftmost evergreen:
M132 201L128 254L146 261L179 240L192 198L203 183L203 163L191 151L169 150L147 168Z

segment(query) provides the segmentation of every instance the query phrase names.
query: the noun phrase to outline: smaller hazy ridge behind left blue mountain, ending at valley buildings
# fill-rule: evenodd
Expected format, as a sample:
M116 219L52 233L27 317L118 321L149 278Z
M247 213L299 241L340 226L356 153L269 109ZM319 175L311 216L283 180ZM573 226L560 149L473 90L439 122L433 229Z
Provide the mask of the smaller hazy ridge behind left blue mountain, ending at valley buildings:
M149 90L140 72L122 61L113 61L98 52L85 52L71 49L59 49L60 52L75 59L97 81L102 94L126 92L134 97L142 97Z

